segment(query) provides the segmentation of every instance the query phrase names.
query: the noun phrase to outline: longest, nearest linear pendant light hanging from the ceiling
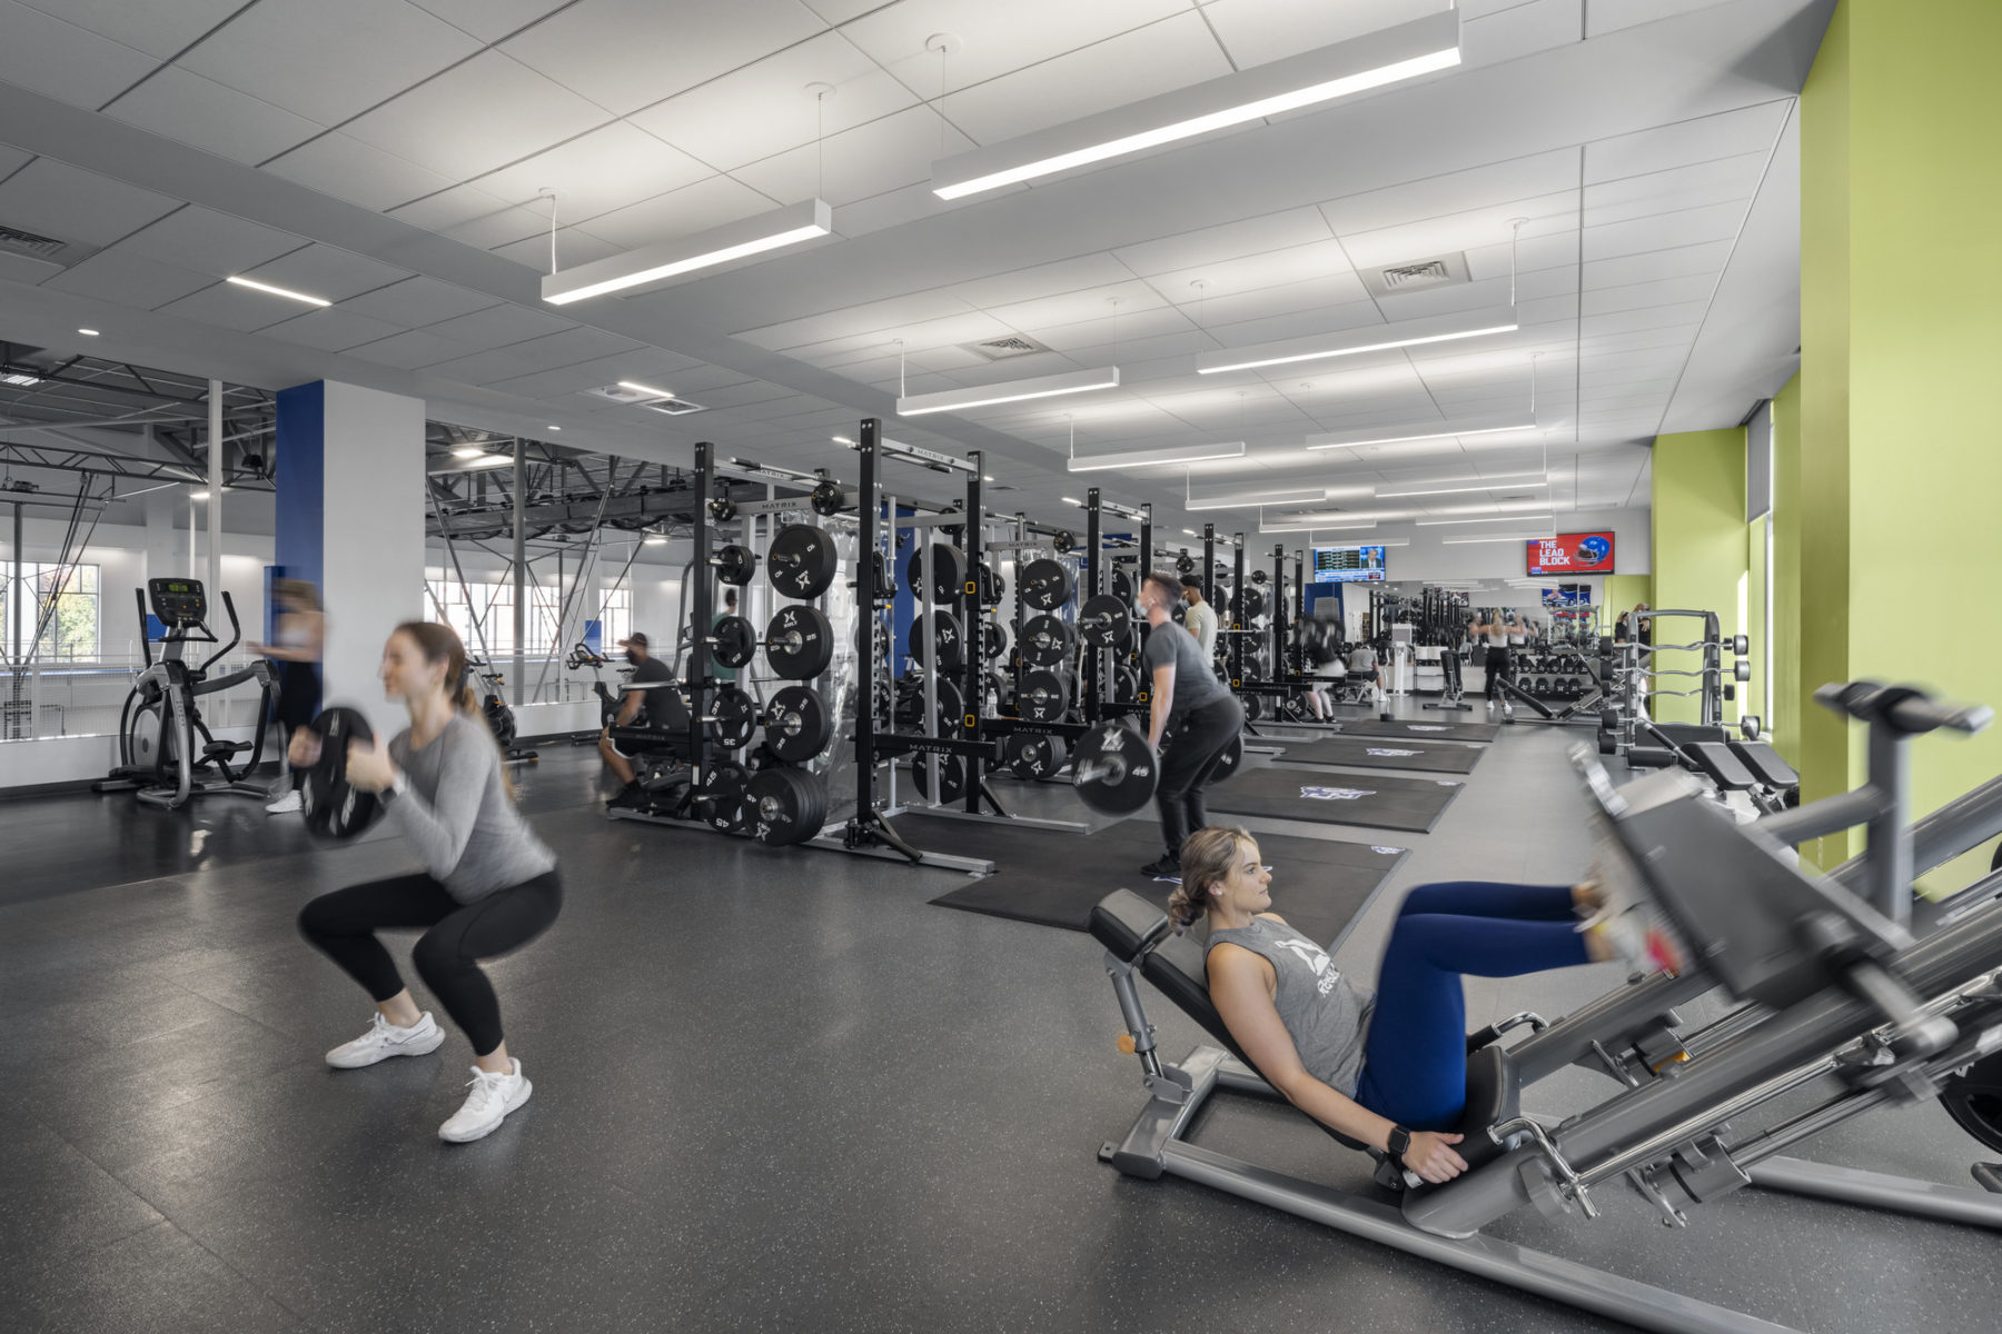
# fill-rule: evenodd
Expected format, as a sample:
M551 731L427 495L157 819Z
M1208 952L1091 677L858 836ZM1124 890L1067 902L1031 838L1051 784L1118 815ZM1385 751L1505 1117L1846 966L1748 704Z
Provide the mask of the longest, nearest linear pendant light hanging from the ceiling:
M931 192L941 200L959 200L1449 70L1455 64L1459 64L1459 14L1443 10L1351 42L1273 60L947 158L931 168Z

